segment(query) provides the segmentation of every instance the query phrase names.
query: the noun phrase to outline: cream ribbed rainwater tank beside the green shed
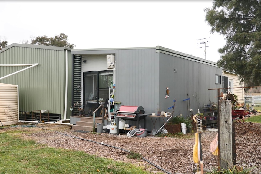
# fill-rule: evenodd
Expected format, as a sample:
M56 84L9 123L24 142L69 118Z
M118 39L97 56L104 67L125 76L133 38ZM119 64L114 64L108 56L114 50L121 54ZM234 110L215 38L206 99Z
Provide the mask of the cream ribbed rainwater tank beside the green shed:
M0 121L3 125L18 123L18 106L18 86L0 83Z

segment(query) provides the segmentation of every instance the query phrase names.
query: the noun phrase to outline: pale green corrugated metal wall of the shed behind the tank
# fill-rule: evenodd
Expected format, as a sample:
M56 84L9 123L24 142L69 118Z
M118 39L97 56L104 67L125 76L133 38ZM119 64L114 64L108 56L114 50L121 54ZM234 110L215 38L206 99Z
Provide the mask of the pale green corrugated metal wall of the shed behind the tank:
M13 46L0 53L0 64L31 64L38 66L22 71L18 74L0 80L1 83L19 86L20 111L49 110L50 113L61 114L64 117L64 91L65 91L65 50L61 47L45 49L48 47L31 48L26 46ZM71 53L68 50L68 58ZM68 61L72 67L72 61ZM0 77L11 74L28 66L1 67ZM71 107L72 70L68 68L68 111ZM70 114L70 112L67 112Z

